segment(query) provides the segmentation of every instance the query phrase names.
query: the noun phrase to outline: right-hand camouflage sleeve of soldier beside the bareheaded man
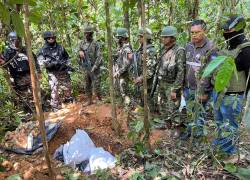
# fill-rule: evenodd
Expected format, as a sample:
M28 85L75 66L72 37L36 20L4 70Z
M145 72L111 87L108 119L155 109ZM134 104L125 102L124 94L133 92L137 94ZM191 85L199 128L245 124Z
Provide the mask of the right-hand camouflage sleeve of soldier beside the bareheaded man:
M176 54L176 79L173 83L172 91L177 91L183 87L186 55L185 50L179 50Z

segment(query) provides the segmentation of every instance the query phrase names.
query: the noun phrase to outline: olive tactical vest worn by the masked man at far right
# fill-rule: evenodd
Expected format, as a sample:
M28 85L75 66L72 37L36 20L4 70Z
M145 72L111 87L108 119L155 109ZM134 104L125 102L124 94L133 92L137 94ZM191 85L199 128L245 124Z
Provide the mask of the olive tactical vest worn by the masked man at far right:
M218 54L230 56L233 57L233 59L236 59L241 50L246 47L250 47L250 42L240 44L236 49L233 50L223 50ZM235 74L232 75L227 92L243 92L246 90L246 83L247 77L245 71L237 71L237 76Z

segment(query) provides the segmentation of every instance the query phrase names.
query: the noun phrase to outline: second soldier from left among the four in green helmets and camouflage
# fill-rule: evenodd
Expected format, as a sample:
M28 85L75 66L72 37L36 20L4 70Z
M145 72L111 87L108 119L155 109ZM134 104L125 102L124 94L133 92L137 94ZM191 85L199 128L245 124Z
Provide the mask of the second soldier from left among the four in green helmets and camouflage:
M116 31L118 39L118 58L115 61L114 78L118 80L119 93L122 96L125 106L130 105L131 99L129 97L129 68L133 59L132 48L128 42L128 30L126 28L118 28Z

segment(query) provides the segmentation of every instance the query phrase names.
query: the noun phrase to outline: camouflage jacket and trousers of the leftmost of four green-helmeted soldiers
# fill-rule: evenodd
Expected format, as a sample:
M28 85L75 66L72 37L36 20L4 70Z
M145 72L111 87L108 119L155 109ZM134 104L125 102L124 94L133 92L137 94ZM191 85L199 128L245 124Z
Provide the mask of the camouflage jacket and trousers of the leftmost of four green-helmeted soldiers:
M85 75L85 92L88 97L92 96L92 89L95 95L101 97L101 71L103 58L101 53L100 44L96 41L88 42L82 41L79 46L79 50L87 53L88 61L90 62L91 74L84 70ZM80 60L81 61L81 60ZM84 60L82 60L84 61ZM81 66L81 62L80 66Z

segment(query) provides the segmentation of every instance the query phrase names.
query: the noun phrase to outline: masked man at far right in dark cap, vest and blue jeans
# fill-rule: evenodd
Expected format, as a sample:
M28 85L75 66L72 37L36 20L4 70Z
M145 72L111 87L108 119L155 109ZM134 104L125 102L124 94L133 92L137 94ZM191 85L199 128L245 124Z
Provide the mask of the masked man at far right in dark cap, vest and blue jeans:
M237 76L232 75L226 91L214 92L213 94L214 114L218 130L213 144L228 155L237 153L239 118L244 106L244 94L250 85L248 81L250 75L250 42L244 34L245 27L246 21L242 16L229 17L222 26L228 46L226 50L218 52L219 55L233 57L237 68Z

